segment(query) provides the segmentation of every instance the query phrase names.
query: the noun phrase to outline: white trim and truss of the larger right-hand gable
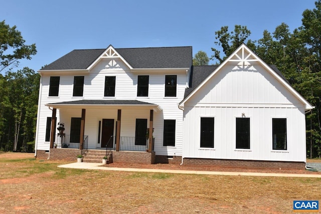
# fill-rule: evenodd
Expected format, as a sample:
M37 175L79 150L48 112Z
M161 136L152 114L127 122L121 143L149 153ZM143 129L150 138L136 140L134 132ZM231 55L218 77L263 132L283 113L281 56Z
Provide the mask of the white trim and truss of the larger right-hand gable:
M242 55L239 56L238 53L242 51ZM248 55L245 55L245 51L248 52ZM246 56L246 57L245 57ZM305 106L305 110L313 109L314 107L309 104L295 89L288 84L283 78L281 78L275 71L268 66L264 61L262 61L251 49L249 49L245 44L242 44L238 47L223 63L219 65L219 67L212 72L200 85L196 87L196 89L189 94L182 102L179 104L180 109L184 109L184 104L194 95L196 94L215 74L217 74L222 67L224 67L228 62L239 62L238 65L249 66L249 62L259 62L268 72L272 74L281 84L285 86L297 99L299 99Z

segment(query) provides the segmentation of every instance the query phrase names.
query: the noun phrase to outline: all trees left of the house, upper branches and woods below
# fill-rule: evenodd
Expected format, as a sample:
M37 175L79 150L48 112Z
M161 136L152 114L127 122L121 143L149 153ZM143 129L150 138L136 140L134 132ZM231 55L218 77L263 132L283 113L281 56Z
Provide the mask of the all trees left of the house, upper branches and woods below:
M26 45L16 26L0 22L0 150L34 151L40 75L13 71L31 59L36 45ZM3 75L2 73L5 73Z

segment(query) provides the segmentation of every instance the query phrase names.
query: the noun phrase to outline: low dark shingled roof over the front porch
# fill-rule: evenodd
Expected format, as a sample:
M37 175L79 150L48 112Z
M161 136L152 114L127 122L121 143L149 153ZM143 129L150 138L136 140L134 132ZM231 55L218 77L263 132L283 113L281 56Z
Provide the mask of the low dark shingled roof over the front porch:
M48 103L47 105L155 105L138 100L76 100L59 103Z

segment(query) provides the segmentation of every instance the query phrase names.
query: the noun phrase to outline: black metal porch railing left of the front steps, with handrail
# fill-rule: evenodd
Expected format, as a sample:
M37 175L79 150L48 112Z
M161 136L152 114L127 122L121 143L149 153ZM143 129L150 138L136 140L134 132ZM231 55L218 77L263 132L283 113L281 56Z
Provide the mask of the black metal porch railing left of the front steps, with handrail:
M74 148L79 149L80 135L57 134L54 146L57 148ZM84 135L84 149L88 148L88 135Z

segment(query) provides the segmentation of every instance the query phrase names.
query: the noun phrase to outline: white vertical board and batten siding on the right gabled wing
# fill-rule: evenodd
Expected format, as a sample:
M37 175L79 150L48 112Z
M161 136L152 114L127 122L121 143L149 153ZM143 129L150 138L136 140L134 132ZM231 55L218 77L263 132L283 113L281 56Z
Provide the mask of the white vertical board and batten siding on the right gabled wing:
M262 66L225 66L184 107L189 158L305 161L303 104ZM236 149L236 118L250 118L250 149ZM201 117L214 117L214 148L200 147ZM272 149L272 118L286 118L287 150Z

